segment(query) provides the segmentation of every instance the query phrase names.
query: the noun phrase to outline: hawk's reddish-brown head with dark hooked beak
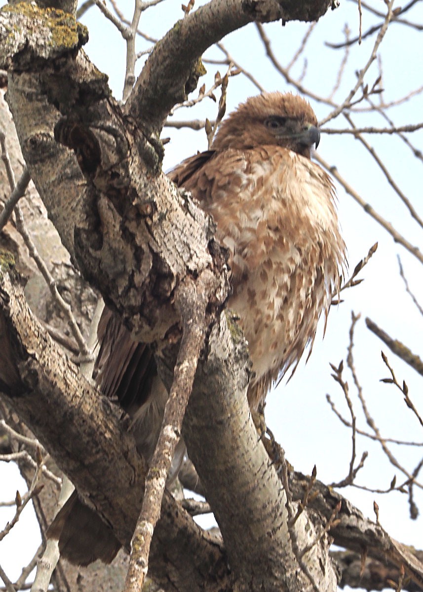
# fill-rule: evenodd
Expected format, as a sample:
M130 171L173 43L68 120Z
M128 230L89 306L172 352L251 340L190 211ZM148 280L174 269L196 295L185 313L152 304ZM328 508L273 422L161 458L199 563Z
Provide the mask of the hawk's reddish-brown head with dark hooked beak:
M310 104L291 93L264 92L239 105L219 127L214 150L277 144L310 158L319 144L317 118Z

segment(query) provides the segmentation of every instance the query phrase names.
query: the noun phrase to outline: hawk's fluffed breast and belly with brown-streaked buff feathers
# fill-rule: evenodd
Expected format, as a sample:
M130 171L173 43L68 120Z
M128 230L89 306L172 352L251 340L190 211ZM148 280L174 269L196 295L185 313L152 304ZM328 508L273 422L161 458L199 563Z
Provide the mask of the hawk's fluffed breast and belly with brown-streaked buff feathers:
M338 287L345 246L334 189L318 165L278 146L217 153L187 189L230 250L228 307L248 340L255 372L249 400L257 407L312 344Z

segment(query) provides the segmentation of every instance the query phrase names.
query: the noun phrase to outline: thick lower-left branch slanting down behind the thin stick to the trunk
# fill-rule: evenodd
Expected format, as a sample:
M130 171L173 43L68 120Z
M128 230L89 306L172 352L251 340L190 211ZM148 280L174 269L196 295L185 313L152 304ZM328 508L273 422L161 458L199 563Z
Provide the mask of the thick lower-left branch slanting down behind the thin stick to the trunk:
M142 503L145 465L120 419L121 411L57 349L30 313L13 272L9 276L2 271L0 304L2 397L46 445L87 503L129 546ZM210 590L216 591L214 570L223 578L229 576L216 541L204 535L167 493L150 565L166 589L175 591L192 590L187 572L198 585L206 578Z

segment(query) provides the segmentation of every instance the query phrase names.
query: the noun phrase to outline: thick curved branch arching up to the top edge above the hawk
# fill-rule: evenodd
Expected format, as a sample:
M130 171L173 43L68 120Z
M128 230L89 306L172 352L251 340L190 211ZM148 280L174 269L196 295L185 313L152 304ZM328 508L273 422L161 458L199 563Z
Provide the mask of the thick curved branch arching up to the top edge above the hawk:
M196 88L205 72L199 60L213 43L248 22L317 21L330 4L328 0L211 0L178 21L156 43L126 113L150 133L159 134L171 108Z

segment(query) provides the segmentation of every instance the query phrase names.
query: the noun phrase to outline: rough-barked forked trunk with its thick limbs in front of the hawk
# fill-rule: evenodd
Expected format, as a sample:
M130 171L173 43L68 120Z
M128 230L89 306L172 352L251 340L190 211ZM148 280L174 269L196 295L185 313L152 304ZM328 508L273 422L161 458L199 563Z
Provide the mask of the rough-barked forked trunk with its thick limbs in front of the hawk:
M297 505L249 414L248 355L223 313L225 253L210 219L161 172L159 141L170 108L195 88L211 43L254 20L316 20L328 1L212 0L157 44L124 108L81 50L86 31L58 4L0 13L0 65L9 72L24 159L72 260L133 336L153 344L169 386L181 337L175 289L186 276L214 276L184 437L225 546L166 494L152 574L166 590L335 590L322 520L309 508L290 520ZM4 268L1 390L127 546L145 466L120 411L56 348L18 284Z

